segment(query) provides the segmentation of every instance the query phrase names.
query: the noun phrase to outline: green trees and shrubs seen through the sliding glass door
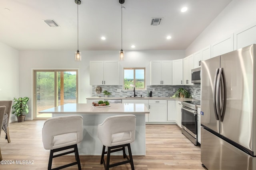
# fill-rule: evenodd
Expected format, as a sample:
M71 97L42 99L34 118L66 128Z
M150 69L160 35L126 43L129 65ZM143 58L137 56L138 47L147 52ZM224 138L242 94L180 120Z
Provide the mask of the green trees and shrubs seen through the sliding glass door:
M54 97L54 72L37 72L36 96L40 98ZM76 74L64 72L64 99L76 99ZM60 72L58 72L58 96L60 99Z

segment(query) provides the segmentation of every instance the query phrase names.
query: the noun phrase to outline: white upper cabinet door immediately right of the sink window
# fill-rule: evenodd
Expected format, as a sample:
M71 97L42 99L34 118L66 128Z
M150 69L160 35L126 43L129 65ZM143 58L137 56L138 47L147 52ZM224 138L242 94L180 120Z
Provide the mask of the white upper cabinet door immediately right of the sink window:
M161 85L162 83L162 63L161 61L150 62L150 84Z

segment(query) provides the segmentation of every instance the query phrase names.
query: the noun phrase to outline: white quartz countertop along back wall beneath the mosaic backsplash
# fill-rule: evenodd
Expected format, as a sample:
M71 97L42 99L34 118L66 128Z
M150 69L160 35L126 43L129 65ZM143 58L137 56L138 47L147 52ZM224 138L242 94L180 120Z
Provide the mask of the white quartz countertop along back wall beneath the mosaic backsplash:
M198 99L195 98L170 98L170 97L135 97L135 98L126 98L126 97L109 97L109 98L105 98L105 97L90 97L90 98L86 98L86 99L90 99L90 100L111 100L111 99L128 99L128 100L134 100L134 99L139 99L139 100L178 100L180 102L182 101L198 101Z

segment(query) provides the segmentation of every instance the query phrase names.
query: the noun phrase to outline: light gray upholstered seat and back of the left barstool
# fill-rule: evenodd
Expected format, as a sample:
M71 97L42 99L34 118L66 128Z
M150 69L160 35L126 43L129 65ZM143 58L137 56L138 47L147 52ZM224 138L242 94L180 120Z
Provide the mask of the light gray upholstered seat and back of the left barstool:
M68 115L53 117L44 122L42 141L44 149L52 150L80 143L83 138L83 117Z

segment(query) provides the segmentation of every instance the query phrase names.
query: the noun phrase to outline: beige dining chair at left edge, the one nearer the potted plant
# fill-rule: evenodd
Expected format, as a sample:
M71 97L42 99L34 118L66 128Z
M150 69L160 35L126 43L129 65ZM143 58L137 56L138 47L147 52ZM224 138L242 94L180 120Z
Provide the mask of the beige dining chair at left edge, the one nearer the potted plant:
M5 106L5 115L4 115L4 122L1 126L4 132L6 133L5 139L7 139L8 143L11 142L10 134L9 134L9 123L10 117L12 112L12 100L2 100L0 101L0 106Z

